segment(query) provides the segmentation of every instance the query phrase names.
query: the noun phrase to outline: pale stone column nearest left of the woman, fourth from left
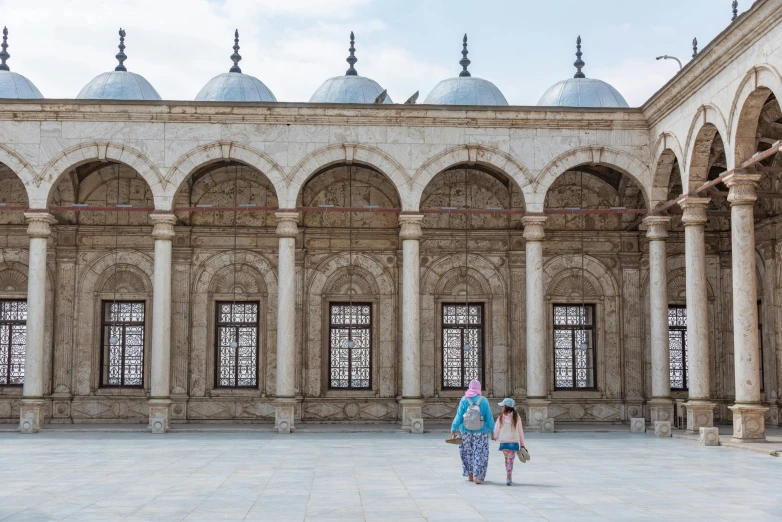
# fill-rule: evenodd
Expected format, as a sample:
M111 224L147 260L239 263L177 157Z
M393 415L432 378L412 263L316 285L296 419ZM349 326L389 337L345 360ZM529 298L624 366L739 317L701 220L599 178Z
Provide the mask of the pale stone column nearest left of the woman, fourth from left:
M411 419L421 419L421 239L422 214L399 216L402 240L402 428L410 429Z

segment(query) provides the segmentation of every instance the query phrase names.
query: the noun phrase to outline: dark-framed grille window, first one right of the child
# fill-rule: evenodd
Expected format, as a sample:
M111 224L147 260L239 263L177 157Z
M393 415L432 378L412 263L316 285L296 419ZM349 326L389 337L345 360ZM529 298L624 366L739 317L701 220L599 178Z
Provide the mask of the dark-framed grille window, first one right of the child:
M554 305L554 388L595 389L595 307Z

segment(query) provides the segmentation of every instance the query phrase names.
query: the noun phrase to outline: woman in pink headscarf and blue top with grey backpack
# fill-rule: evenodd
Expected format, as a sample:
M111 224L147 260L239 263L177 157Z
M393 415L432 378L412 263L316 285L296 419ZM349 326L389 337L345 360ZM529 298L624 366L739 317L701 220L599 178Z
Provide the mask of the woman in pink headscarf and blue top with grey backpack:
M470 381L451 424L451 437L461 431L462 443L459 455L462 457L462 474L476 484L486 478L489 466L489 433L494 431L494 419L489 401L481 396L481 383Z

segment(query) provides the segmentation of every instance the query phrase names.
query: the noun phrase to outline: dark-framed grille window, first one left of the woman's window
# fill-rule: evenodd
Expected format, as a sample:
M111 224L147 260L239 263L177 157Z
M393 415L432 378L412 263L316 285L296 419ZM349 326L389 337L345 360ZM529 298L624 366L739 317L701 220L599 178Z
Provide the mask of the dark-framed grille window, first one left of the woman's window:
M353 341L351 348L349 342ZM329 387L367 390L372 386L372 304L331 303Z

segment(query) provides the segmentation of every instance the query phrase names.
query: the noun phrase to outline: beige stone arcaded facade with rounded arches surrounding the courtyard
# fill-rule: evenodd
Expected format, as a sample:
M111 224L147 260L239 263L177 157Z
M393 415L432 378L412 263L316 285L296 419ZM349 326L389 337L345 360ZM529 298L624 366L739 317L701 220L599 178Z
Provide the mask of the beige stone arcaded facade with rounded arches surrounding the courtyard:
M690 364L690 378L704 386L698 399L714 405L714 419L733 420L728 408L737 403L742 375L752 382L742 384L739 398L748 406L740 414L757 411L778 424L782 209L768 193L779 191L782 155L750 169L766 168L756 170L757 203L742 200L755 237L733 238L754 251L743 257L754 260L761 303L760 317L757 310L739 314L741 353L734 350L735 203L725 186L713 189L722 194L700 194L708 198L707 222L692 225L702 230L692 237L704 238L701 264L686 258L685 236L698 240L685 233L691 225L682 224L679 206L668 209L670 226L654 223L667 229L667 238L655 236L665 243L654 258L665 264L664 288L660 271L650 278L655 238L641 220L782 138L780 21L777 2L756 2L639 109L0 103L0 202L8 207L0 208L0 298L29 301L33 287L45 295L30 303L43 327L28 320L28 343L41 339L40 365L28 364L24 392L0 388L0 419L18 421L24 393L28 409L43 401L44 422L52 423L146 423L165 410L172 423L450 420L462 392L443 387L440 312L444 303L468 299L484 307L490 397L527 405L531 376L542 390L529 406L541 420L671 420L657 413L673 413L671 397L683 401L688 393L666 396L664 377L658 371L653 378L665 357L659 349L653 356L652 338L663 334L651 328L652 279L658 305L664 291L668 304L698 312L699 330L688 336L701 336L697 357L704 359ZM754 182L748 186L754 194ZM117 205L123 207L112 211ZM606 212L552 213L574 207ZM28 232L26 223L32 230L38 218L25 219L25 209L53 216L50 234ZM292 219L281 217L290 212ZM525 227L538 225L523 218L544 212L545 236L525 238ZM401 223L411 215L422 218ZM160 232L161 216L172 216L172 238ZM279 225L285 219L290 226ZM420 227L420 239L405 227ZM542 259L534 274L543 294L528 296L536 241ZM31 252L45 256L35 281ZM418 266L405 272L404 259ZM170 278L156 281L156 267ZM417 281L405 273L418 273ZM216 383L216 303L236 295L259 305L252 389ZM142 388L101 384L101 302L117 296L147 311ZM328 305L351 298L372 307L366 390L329 386ZM582 302L595 310L596 381L589 390L557 390L552 307ZM539 323L532 336L530 303ZM168 309L170 319L153 314ZM757 337L747 330L753 317L762 325L762 364ZM527 346L530 339L536 346ZM28 356L30 350L28 344ZM31 371L40 392L28 386Z

